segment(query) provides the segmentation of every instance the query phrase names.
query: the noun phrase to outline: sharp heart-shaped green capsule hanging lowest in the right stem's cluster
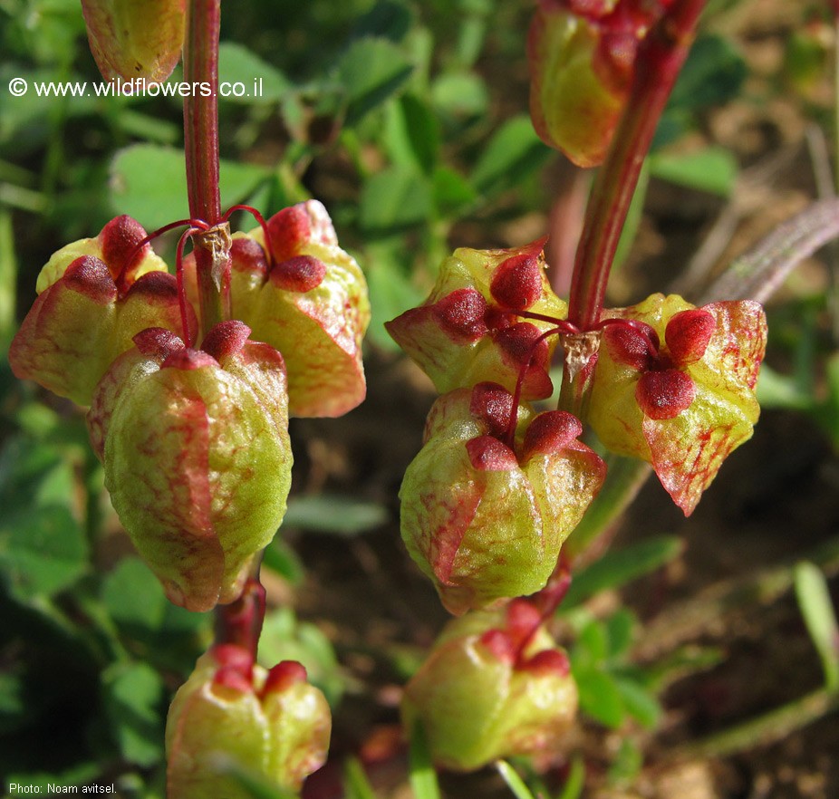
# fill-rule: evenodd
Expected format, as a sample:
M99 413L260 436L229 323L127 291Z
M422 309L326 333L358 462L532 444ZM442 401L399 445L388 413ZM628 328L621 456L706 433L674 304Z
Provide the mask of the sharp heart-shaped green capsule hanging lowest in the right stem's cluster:
M498 384L443 395L402 481L402 539L452 613L542 589L603 483L578 419L522 406L510 440L512 409Z

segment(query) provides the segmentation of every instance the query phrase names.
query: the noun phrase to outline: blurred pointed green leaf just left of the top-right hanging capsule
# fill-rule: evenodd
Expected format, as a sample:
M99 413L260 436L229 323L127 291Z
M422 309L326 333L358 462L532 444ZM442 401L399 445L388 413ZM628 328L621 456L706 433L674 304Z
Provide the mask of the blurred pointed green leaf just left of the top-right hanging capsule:
M524 114L513 117L493 134L472 172L472 184L487 193L518 182L540 166L551 150L536 136L533 123Z

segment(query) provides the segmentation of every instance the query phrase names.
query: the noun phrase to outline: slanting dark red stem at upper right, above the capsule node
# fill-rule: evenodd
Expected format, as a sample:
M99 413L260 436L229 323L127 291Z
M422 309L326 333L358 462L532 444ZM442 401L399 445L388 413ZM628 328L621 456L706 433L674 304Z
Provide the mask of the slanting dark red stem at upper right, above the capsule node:
M600 321L609 271L641 165L705 3L676 0L639 45L626 111L594 181L577 247L568 321L583 331Z

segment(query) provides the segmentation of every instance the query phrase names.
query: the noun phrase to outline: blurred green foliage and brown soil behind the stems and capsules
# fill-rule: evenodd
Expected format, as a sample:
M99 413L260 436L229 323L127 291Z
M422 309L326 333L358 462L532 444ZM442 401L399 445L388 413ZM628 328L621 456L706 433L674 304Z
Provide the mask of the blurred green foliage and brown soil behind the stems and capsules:
M612 305L673 287L696 299L833 192L828 6L710 0L642 174ZM422 301L456 246L550 234L567 295L591 176L532 128L533 11L222 4L220 79L262 81L259 97L219 102L222 202L268 217L321 200L373 308L368 400L342 419L292 421L293 493L263 570L261 659L300 659L333 705L310 799L414 795L400 686L447 617L399 534L401 476L435 394L382 323ZM7 91L13 77L29 82L23 97ZM98 783L161 797L166 708L211 619L169 606L133 554L82 409L15 380L6 353L56 249L117 214L149 231L188 215L181 107L32 91L51 81L101 81L80 5L0 0L0 776L4 791ZM176 241L155 245L169 263ZM768 303L762 418L695 514L650 481L579 575L555 626L580 724L553 759L514 764L535 795L839 795L837 259L806 259ZM450 799L514 795L493 769L440 780Z

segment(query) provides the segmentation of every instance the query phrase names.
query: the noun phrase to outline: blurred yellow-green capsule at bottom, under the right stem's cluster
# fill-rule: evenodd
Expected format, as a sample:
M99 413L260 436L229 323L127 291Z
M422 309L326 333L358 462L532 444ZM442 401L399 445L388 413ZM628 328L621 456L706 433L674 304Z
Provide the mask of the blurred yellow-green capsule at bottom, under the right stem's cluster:
M565 651L525 600L449 621L402 700L436 765L473 771L501 757L548 754L574 722Z

